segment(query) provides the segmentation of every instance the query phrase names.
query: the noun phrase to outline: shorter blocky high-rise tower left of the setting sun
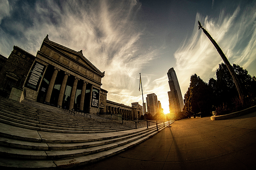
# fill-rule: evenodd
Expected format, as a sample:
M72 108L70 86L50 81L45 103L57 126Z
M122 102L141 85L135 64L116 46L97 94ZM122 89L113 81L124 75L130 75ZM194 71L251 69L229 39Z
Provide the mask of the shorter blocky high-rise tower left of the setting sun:
M159 111L157 95L154 93L147 94L146 101L148 113L151 114L151 116L155 116L155 114Z

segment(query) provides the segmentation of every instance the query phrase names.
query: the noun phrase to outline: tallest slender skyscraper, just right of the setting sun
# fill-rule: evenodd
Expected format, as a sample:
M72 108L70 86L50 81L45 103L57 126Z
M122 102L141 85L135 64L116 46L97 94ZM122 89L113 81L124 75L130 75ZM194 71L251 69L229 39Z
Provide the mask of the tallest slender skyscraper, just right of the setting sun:
M170 87L168 91L170 113L178 113L183 110L184 102L174 68L170 68L167 75Z

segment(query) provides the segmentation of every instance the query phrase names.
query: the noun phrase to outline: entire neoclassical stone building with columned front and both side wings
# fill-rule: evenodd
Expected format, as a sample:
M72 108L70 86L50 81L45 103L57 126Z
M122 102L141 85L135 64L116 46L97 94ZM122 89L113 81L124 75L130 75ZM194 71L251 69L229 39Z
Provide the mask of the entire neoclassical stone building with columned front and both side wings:
M99 71L81 51L44 38L36 56L14 46L6 60L0 56L0 88L24 91L26 99L86 113L115 113L139 118L135 107L107 100Z

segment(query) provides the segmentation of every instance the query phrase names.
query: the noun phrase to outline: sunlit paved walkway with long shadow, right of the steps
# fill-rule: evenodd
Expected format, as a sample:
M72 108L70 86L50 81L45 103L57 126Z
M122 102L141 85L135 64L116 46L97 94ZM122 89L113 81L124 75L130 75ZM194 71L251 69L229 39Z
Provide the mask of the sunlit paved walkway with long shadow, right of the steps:
M77 170L255 170L256 112L183 119L141 144Z

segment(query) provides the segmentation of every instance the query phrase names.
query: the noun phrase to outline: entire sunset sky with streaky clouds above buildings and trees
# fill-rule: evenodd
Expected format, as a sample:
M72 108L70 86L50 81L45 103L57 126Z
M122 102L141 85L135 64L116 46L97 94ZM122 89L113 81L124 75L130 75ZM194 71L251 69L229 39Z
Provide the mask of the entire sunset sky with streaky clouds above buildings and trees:
M169 113L170 68L184 96L192 74L216 79L222 62L198 20L231 65L256 75L256 0L0 0L0 54L36 56L48 34L105 71L108 100L142 105L141 73L144 102L154 93Z

